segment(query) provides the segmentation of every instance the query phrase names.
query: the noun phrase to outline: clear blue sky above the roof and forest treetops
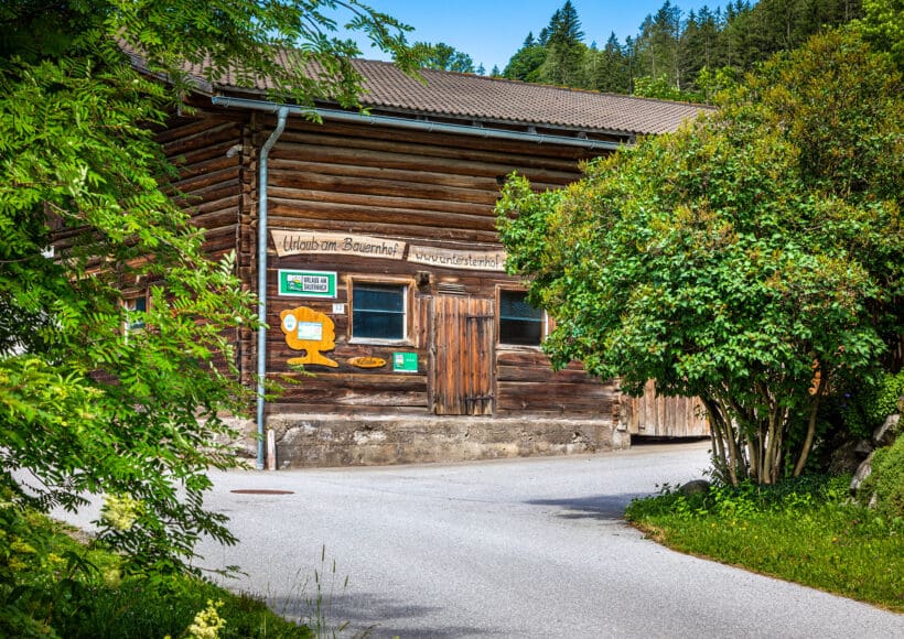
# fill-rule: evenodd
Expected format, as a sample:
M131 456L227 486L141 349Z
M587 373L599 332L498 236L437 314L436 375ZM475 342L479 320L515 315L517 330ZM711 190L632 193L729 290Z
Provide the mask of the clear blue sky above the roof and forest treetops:
M374 9L388 13L415 28L410 42L444 42L469 54L474 65L486 72L496 64L503 69L528 32L536 36L566 0L365 0ZM647 14L655 13L665 0L572 0L581 19L584 42L603 46L611 32L618 41L637 34ZM685 13L703 4L711 9L719 1L672 0ZM386 59L362 39L356 39L363 56Z

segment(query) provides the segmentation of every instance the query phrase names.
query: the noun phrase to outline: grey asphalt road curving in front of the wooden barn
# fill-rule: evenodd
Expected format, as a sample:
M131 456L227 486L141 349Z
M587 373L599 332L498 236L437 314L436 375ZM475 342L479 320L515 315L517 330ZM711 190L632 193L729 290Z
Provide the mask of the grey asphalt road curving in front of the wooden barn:
M343 636L904 637L904 616L668 551L621 521L633 497L700 477L707 447L217 474L208 505L241 541L202 552L286 615L314 615L322 594Z

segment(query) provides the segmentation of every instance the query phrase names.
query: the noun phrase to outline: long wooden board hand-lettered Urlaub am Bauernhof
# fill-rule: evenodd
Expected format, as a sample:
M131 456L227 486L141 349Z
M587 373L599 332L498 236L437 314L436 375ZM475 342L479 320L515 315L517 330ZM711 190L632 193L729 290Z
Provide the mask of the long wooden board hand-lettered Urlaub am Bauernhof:
M405 257L406 242L366 235L273 229L270 236L279 257L356 256L384 260L400 260Z

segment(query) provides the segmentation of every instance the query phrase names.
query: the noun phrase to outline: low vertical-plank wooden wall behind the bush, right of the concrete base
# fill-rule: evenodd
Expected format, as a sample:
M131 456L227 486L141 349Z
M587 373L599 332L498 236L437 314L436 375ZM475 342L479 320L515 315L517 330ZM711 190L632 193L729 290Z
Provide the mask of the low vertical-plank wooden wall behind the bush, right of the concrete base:
M644 394L629 399L628 432L653 437L706 437L709 422L703 404L695 398L659 397L648 381Z

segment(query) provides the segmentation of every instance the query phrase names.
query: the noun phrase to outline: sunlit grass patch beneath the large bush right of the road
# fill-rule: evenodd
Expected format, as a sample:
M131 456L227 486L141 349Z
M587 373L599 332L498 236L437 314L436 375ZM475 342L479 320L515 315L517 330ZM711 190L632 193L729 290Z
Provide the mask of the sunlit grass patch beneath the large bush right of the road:
M904 613L904 520L849 503L849 480L666 487L626 518L675 550Z

